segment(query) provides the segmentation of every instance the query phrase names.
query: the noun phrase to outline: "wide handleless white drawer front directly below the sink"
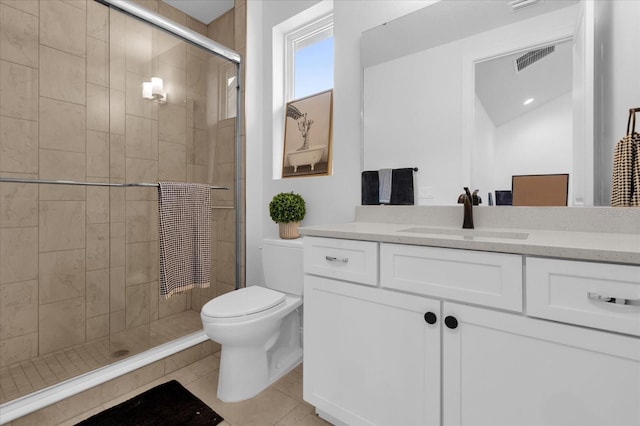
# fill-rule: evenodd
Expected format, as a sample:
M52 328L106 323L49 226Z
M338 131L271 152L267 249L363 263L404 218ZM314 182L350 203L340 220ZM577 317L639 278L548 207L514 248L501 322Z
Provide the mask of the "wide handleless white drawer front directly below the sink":
M381 244L380 285L522 312L522 257Z

